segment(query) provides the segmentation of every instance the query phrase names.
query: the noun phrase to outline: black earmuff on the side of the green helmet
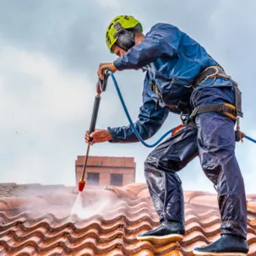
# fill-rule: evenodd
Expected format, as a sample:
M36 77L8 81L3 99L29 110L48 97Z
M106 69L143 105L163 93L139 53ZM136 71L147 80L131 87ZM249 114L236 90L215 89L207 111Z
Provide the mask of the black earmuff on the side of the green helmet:
M135 31L138 29L125 30L119 22L114 24L114 28L117 30L114 35L114 38L117 37L117 46L128 52L135 45Z

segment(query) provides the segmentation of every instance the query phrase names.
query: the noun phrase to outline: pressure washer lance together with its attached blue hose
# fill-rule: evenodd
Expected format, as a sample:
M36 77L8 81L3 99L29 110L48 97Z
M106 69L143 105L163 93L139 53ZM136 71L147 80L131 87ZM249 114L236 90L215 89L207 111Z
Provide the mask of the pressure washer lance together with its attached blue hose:
M98 83L97 83L97 94L95 96L95 104L94 104L94 108L93 108L93 113L92 113L92 118L91 118L91 122L90 122L90 133L93 133L95 130L95 123L96 123L96 119L97 119L97 115L98 115L98 111L99 111L99 106L100 106L100 101L101 101L101 92L106 90L106 83L107 83L107 78L108 76L112 77L112 81L113 84L116 87L117 90L117 95L119 96L119 99L122 103L123 106L123 110L126 114L126 116L128 117L128 122L131 125L131 128L133 128L133 132L136 134L137 138L139 139L139 141L144 144L144 146L148 147L148 148L152 148L155 147L157 144L159 144L161 142L162 139L164 139L168 134L172 133L172 131L174 131L176 128L172 128L171 130L167 131L166 133L164 133L160 139L158 139L154 144L147 144L144 142L144 140L141 138L138 130L135 128L134 124L133 124L133 120L130 117L129 113L128 113L128 109L123 101L123 96L121 94L121 91L119 90L119 86L117 84L117 80L114 76L114 74L112 74L112 72L108 69L105 69L103 72L103 80L99 79ZM242 139L248 139L250 141L252 141L253 143L256 144L256 139L250 138L248 137L248 135L246 135L245 133L242 133L240 130L240 124L239 124L239 119L237 120L237 130L235 131L235 136L236 136L236 141L242 141ZM84 181L84 176L85 176L85 168L86 168L86 164L87 164L87 160L88 160L88 155L89 155L89 150L90 150L90 144L88 144L87 147L87 152L86 152L86 156L85 156L85 160L84 160L84 170L83 170L83 175L79 181L79 191L83 191L84 190L84 186L85 186L85 181Z

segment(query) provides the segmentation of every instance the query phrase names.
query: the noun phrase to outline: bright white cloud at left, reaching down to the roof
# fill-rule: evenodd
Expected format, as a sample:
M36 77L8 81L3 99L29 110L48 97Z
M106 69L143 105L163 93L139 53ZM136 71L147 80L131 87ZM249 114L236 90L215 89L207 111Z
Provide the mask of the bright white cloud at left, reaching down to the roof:
M63 127L90 119L95 85L84 74L64 73L41 54L6 46L0 58L0 154L8 156L3 180L47 182L42 177L56 172L54 154L70 141Z

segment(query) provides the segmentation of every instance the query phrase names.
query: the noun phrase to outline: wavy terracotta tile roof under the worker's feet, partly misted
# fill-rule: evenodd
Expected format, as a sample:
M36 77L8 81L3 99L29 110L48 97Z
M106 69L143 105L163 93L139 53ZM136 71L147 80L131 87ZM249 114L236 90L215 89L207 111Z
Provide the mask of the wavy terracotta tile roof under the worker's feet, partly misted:
M159 225L145 184L85 188L80 197L84 208L73 215L75 188L4 184L0 195L0 255L192 256L193 248L220 237L214 193L184 192L186 234L182 242L169 244L136 239ZM250 195L248 256L256 255L255 205L256 195Z

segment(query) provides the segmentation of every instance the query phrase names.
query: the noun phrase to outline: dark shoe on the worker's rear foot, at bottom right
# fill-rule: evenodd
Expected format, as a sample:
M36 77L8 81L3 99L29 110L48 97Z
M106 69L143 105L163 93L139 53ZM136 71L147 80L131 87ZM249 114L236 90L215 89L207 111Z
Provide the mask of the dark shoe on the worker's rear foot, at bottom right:
M248 242L243 237L221 235L221 238L202 248L194 248L195 255L244 256L248 253Z

